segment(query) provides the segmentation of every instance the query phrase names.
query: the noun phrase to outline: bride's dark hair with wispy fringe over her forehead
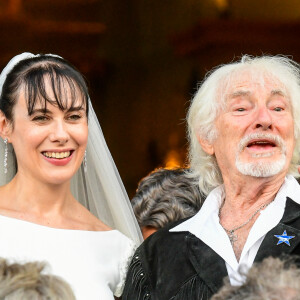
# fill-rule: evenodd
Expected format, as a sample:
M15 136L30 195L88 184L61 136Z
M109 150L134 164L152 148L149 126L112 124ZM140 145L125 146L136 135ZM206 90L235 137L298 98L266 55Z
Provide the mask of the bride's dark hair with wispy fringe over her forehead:
M50 82L51 96L45 89ZM20 90L24 88L28 114L31 115L37 103L46 110L47 103L61 110L72 109L78 100L85 107L88 116L88 88L79 71L66 60L51 55L39 55L21 60L7 74L0 96L0 110L13 121L13 108ZM78 92L80 95L78 95Z

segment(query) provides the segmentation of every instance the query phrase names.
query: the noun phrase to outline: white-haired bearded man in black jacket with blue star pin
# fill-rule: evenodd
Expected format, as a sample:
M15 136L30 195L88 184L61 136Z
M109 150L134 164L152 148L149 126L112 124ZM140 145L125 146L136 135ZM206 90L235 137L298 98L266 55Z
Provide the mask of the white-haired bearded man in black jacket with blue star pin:
M188 114L190 164L207 198L149 237L122 299L209 299L253 262L300 254L300 74L292 60L244 56L206 78ZM243 269L243 272L239 272Z

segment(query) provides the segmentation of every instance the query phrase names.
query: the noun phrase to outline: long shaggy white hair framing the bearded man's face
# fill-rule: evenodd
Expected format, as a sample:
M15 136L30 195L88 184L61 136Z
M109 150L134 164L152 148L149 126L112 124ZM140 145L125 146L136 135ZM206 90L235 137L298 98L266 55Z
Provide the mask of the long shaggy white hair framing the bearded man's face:
M215 119L222 111L226 90L232 81L243 73L250 79L278 80L291 101L294 118L296 146L289 167L289 174L299 177L297 166L300 159L300 73L299 65L285 56L243 56L240 61L222 65L212 70L193 97L187 115L189 136L189 161L192 176L198 178L204 194L223 183L223 178L214 155L207 154L199 139L212 143L217 137Z

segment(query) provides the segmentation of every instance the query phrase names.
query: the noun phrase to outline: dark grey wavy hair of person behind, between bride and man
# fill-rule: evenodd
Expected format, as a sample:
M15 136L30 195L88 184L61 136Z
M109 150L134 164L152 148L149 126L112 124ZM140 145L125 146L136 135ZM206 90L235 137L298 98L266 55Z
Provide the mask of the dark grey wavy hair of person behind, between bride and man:
M157 169L143 178L131 204L140 227L163 228L168 223L195 215L202 197L186 169Z

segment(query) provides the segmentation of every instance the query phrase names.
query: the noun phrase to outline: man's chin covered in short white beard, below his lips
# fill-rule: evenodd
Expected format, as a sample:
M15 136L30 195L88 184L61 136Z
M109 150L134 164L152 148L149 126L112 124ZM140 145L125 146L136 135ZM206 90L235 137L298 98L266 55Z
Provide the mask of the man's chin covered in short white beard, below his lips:
M236 167L240 173L252 177L272 177L280 173L286 164L286 157L282 155L276 161L259 160L255 162L242 162L237 158Z

